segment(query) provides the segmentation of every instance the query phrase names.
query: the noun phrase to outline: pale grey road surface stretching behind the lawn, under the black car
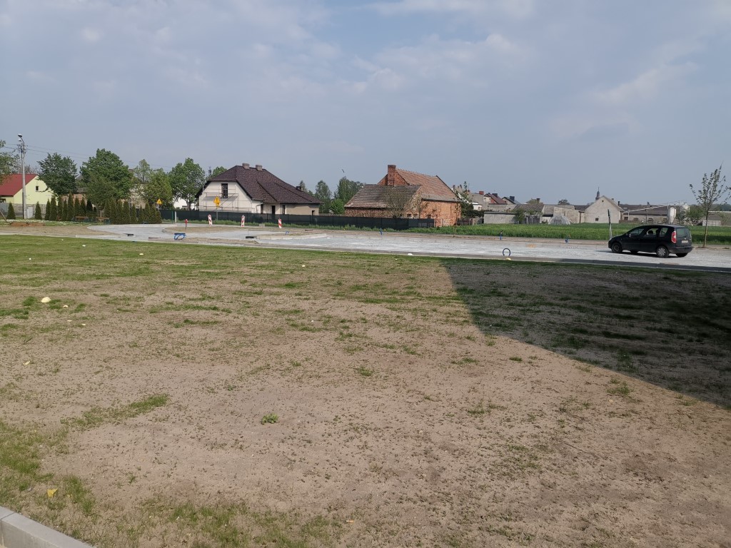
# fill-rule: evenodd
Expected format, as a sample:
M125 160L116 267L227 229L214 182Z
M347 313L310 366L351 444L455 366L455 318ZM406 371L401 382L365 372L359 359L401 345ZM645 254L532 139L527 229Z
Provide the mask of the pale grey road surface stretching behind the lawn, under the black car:
M99 237L112 240L173 242L175 232L186 232L181 245L197 243L220 246L257 245L272 248L317 249L400 255L455 256L518 261L580 262L607 265L715 270L731 273L731 249L715 246L694 248L685 257L659 259L654 255L614 254L606 242L587 240L538 240L529 238L418 235L400 232L346 232L259 229L233 226L207 227L170 224L111 225L89 227Z

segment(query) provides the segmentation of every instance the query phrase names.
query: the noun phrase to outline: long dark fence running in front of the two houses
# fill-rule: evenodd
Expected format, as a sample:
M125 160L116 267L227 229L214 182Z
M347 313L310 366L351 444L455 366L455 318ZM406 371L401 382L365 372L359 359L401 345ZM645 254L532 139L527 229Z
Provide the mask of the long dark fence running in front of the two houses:
M406 230L410 228L433 228L433 218L393 218L393 217L350 217L345 215L272 215L271 213L240 213L236 211L201 211L201 210L162 210L164 220L170 221L178 213L178 221L208 221L208 216L216 221L241 222L245 216L246 224L276 224L281 218L283 225L300 225L306 227L355 227L371 229Z

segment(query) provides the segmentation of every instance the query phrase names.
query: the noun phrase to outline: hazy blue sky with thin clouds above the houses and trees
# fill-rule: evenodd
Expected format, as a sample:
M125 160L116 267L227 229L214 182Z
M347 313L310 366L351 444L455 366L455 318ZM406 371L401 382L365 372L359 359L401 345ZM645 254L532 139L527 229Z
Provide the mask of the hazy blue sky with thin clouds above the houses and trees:
M731 0L0 0L0 140L692 202L731 162L730 29Z

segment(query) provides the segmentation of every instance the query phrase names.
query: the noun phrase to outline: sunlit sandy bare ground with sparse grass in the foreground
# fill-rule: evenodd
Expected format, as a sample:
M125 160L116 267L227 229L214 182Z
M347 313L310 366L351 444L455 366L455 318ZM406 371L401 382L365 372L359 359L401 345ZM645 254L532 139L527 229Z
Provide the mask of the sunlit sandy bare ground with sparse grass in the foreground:
M68 429L27 514L110 547L731 546L727 409L486 335L433 260L168 249L0 275L6 307L56 302L0 316L1 420ZM93 510L44 502L67 476ZM240 503L249 536L216 536L204 509Z

